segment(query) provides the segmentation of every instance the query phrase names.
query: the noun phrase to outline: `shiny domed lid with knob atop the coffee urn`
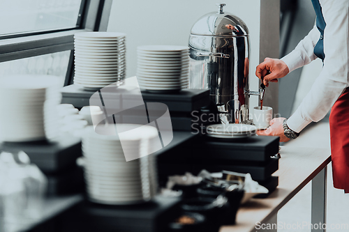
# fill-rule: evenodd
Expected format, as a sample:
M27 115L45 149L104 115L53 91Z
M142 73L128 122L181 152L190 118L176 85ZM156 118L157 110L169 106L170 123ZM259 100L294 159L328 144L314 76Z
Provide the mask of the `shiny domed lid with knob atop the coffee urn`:
M208 13L195 22L192 35L248 36L248 27L239 17L223 12L225 3L217 3L218 12Z

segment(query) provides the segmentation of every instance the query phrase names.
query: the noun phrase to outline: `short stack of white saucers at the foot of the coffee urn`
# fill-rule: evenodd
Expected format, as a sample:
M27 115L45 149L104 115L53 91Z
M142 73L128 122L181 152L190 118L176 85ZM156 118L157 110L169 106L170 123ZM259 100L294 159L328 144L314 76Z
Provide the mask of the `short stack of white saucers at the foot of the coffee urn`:
M220 139L242 139L255 135L257 127L247 124L214 124L206 128L207 136Z

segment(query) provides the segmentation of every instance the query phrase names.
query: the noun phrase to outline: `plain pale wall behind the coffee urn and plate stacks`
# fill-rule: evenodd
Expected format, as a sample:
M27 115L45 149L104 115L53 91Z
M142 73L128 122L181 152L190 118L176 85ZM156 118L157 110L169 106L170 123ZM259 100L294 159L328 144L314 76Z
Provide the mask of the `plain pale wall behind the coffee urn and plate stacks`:
M137 46L188 45L191 26L202 15L216 11L216 3L219 1L114 0L107 31L127 33L126 77L135 75ZM260 61L260 1L228 0L225 3L224 11L240 17L250 30L250 89L256 91L258 78L255 77L255 67ZM276 47L279 47L279 44ZM258 98L251 97L250 106L256 105Z

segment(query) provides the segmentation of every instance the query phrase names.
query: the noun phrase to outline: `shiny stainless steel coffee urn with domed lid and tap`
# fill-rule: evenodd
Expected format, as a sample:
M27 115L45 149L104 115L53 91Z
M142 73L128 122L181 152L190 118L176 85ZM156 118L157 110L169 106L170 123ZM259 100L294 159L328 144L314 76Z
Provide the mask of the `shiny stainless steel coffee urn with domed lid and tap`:
M246 24L235 15L225 13L225 3L216 4L217 12L208 13L195 22L189 38L189 88L209 89L222 123L250 123L248 71L250 41Z

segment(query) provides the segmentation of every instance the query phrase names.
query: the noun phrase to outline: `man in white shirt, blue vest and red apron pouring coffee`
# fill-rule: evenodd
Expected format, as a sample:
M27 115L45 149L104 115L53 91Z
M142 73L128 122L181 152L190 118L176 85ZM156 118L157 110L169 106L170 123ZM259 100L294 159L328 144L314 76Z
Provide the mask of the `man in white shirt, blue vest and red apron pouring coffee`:
M349 193L349 0L311 0L316 26L283 59L265 59L255 75L263 83L278 82L288 72L316 58L323 67L311 90L290 118L274 118L261 135L279 136L280 141L298 137L311 121L318 122L331 109L329 127L334 187ZM267 73L271 72L269 75Z

